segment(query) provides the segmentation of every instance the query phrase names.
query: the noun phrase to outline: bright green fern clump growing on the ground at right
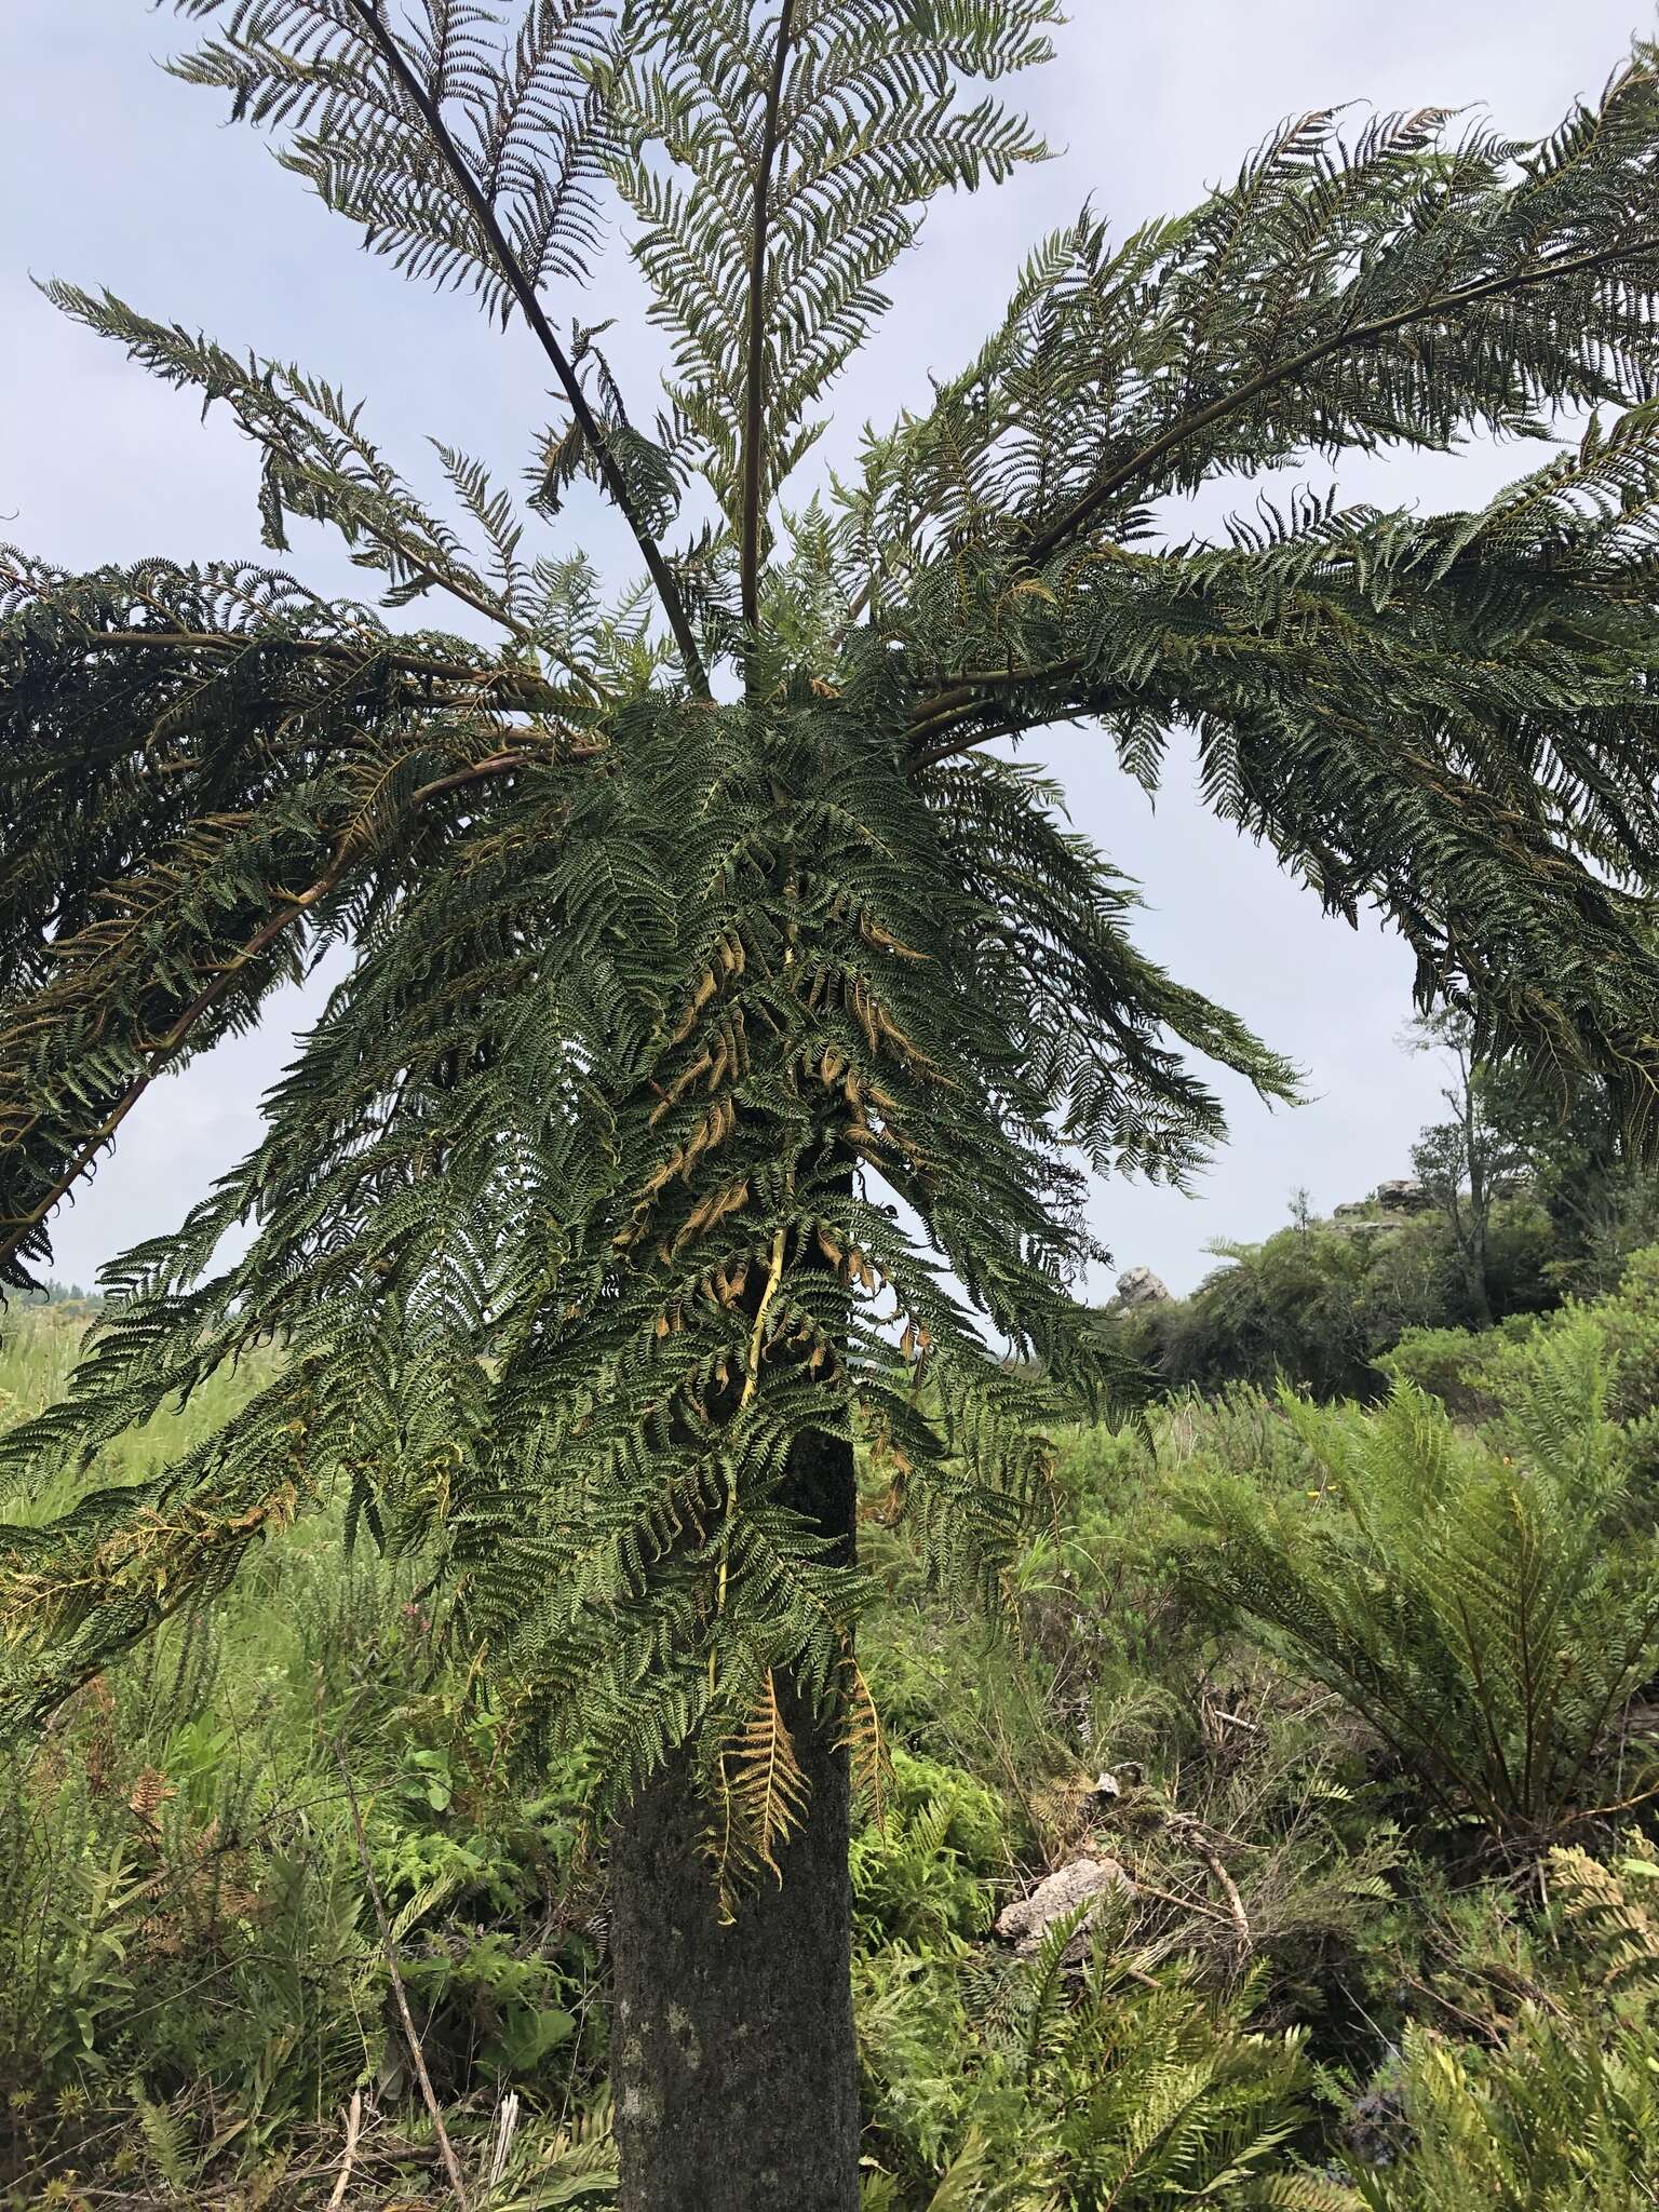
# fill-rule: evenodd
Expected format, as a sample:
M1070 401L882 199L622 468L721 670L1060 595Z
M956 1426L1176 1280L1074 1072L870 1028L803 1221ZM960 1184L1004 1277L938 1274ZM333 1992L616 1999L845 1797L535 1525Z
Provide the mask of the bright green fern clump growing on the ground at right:
M1630 1528L1595 1332L1528 1349L1506 1436L1396 1385L1374 1413L1287 1400L1305 1498L1237 1478L1183 1498L1188 1571L1329 1683L1451 1816L1540 1845L1659 1661L1659 1551Z

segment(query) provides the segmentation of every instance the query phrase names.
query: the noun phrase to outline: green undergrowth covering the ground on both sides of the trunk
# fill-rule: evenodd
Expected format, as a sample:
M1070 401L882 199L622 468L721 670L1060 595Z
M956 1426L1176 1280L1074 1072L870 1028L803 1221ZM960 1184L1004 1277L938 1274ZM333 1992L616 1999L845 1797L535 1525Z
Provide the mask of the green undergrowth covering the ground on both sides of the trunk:
M7 1418L82 1325L13 1316ZM1000 1641L865 1455L867 2205L1659 2188L1659 1250L1385 1365L1369 1407L1234 1383L1064 1436ZM73 1699L0 1787L7 2201L449 2201L396 1960L469 2201L604 2205L602 1838L588 1776L526 1785L509 1739L434 1652L422 1562L321 1524ZM1093 1896L998 1938L1079 1860Z

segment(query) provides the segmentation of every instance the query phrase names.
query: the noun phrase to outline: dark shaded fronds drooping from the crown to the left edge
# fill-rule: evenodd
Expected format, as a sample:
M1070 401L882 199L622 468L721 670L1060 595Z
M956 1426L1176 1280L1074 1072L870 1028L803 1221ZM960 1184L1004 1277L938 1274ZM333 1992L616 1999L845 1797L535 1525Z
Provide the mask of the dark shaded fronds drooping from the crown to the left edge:
M0 1261L157 1073L259 1018L440 847L582 750L588 699L252 566L0 553Z

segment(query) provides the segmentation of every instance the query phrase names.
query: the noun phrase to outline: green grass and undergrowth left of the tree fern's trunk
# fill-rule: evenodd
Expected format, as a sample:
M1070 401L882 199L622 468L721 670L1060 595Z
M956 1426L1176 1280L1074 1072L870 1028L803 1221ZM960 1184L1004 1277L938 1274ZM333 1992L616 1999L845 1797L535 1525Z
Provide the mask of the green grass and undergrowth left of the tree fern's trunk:
M62 1336L53 1312L13 1332L24 1405L51 1394ZM137 1464L146 1449L117 1447ZM345 1562L321 1535L290 1533L232 1604L168 1624L7 1761L0 2177L84 2170L82 2139L102 2161L142 2143L190 2201L234 2201L312 2130L336 2141L354 2088L369 2112L405 2106L420 2141L338 1745L453 2126L482 2137L515 2084L524 2188L542 2159L549 2188L575 2188L582 2159L615 2181L608 2141L557 2148L604 2064L580 1781L524 1796L500 1714L434 1681L407 1568ZM398 2126L365 2128L365 2185L418 2183L425 2152L398 2166L380 2135Z

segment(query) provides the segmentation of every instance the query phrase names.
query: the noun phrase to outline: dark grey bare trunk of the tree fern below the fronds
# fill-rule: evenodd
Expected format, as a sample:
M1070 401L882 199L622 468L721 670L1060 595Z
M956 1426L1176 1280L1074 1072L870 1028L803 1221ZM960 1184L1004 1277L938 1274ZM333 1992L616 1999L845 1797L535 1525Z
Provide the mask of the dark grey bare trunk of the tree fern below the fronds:
M852 1542L852 1449L816 1440L799 1489ZM785 1712L812 1816L721 1927L684 1765L635 1801L611 1860L619 2212L856 2212L847 1756Z

